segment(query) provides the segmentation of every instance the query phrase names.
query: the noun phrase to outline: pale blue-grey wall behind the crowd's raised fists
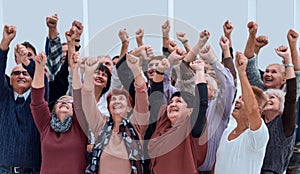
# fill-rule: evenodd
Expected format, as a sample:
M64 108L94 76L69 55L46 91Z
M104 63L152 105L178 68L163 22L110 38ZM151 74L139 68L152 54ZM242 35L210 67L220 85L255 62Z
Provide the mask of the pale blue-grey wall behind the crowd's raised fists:
M136 46L134 32L145 29L145 44L154 47L157 54L161 52L161 24L168 14L174 15L172 34L186 31L189 42L195 44L199 31L208 29L211 33L210 43L220 55L218 40L223 34L222 25L229 19L234 25L232 33L235 51L243 51L248 36L247 23L255 20L259 24L258 34L269 36L270 43L260 52L259 65L262 69L271 62L281 60L274 54L274 48L287 44L288 29L300 32L300 3L297 0L131 0L131 1L97 1L97 0L0 0L0 27L4 24L17 26L17 37L10 50L7 72L14 66L13 47L28 40L36 46L37 51L44 50L47 27L46 16L58 13L59 32L63 41L64 32L73 20L86 24L82 45L87 46L83 55L97 56L119 53L120 28L126 28L131 36L130 49ZM87 8L84 10L84 3ZM170 10L171 9L171 10ZM173 10L172 10L173 9ZM298 9L298 11L297 11ZM86 14L86 17L84 17ZM84 40L88 38L88 40ZM176 40L176 39L175 39Z

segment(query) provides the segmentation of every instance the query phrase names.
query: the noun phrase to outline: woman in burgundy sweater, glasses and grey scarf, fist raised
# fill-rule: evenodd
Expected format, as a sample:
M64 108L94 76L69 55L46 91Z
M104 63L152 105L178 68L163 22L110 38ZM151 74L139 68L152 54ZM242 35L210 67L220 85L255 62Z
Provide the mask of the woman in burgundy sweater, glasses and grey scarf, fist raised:
M35 62L30 108L41 137L41 173L82 174L86 166L87 137L73 111L73 98L60 97L51 113L43 97L45 53L39 54Z

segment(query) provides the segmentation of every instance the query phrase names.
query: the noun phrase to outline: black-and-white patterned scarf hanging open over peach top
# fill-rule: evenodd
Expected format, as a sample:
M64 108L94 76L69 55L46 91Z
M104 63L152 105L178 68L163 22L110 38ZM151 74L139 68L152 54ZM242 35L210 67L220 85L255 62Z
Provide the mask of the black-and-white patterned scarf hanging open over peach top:
M92 158L89 161L88 167L85 170L86 174L97 174L99 170L100 156L109 142L114 122L110 118L100 131L97 142L93 148ZM128 153L128 159L131 164L132 174L143 174L144 170L142 163L144 156L142 154L142 145L139 141L139 137L132 127L128 119L123 119L120 124L120 134L125 141L125 146Z

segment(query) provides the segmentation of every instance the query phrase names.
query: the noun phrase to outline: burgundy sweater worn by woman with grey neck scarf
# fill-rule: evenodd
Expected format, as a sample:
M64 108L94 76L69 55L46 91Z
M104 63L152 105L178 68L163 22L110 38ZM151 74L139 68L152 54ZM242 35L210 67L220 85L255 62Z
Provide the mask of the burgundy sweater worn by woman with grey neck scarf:
M30 108L41 137L41 174L84 173L87 137L75 112L70 129L64 133L56 133L50 127L51 113L43 96L44 88L32 88Z

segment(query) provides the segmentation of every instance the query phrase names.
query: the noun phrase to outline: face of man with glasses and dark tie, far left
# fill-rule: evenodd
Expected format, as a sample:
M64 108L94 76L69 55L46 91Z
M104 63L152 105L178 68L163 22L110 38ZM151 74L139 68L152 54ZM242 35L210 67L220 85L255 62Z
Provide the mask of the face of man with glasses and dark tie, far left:
M20 73L21 72L21 73ZM25 93L31 86L32 79L21 64L13 68L10 76L10 85L18 94Z

